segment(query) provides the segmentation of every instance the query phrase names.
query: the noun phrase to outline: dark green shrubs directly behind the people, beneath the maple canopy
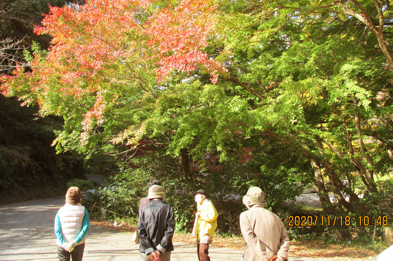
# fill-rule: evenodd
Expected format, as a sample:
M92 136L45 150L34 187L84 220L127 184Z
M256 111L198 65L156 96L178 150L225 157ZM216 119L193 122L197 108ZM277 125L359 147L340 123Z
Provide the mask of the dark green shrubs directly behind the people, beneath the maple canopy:
M241 212L247 210L242 203L242 197L249 187L259 186L262 183L266 185L265 188L262 186L266 190L266 208L279 215L283 222L291 210L285 201L293 200L302 191L301 184L291 178L281 181L282 175L277 173L263 175L263 180L259 175L248 181L244 173L211 172L208 175L197 175L195 181L184 178L181 172L173 172L167 167L162 168L162 162L165 161L157 155L147 157L145 164L140 168L128 168L110 177L107 183L109 188L100 190L101 204L107 210L131 217L136 221L139 201L147 195L147 184L152 179L158 179L162 182L166 203L174 209L176 231L191 232L195 220L193 212L196 211L192 192L203 189L219 213L217 232L222 235L240 235L239 216Z

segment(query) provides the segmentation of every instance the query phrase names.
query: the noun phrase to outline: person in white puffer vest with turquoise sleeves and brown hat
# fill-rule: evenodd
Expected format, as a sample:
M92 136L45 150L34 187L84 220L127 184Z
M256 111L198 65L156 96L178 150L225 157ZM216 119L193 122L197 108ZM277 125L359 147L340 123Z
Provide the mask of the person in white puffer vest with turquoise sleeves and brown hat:
M89 230L89 213L81 205L82 192L77 187L67 190L66 204L55 217L57 256L59 261L82 261L84 240Z

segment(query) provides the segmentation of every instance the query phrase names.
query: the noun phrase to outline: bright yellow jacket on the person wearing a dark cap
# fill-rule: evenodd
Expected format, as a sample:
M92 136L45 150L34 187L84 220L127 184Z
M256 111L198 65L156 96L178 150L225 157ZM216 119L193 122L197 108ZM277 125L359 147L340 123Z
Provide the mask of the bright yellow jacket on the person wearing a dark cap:
M214 235L214 231L217 228L217 217L219 216L213 204L206 199L203 201L198 212L200 213L200 218L198 218L195 227L196 241L206 234Z

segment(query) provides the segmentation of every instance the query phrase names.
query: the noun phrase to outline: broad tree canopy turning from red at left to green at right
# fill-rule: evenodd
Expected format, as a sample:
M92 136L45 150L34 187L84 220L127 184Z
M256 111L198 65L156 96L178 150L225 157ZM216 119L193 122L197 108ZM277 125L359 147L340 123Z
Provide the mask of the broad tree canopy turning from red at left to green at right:
M326 214L328 190L339 212L369 213L357 187L377 195L393 160L389 2L167 4L53 8L36 29L51 49L2 77L3 93L64 117L58 151L124 159L152 140L195 179L191 159L225 166L247 148L257 173L312 179Z

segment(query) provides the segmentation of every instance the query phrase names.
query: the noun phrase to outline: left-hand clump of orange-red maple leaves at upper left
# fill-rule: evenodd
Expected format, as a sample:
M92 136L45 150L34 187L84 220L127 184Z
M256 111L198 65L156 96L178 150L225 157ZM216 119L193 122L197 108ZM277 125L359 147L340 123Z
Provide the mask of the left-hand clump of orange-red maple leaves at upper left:
M81 80L99 84L108 76L108 67L126 58L127 35L142 28L134 13L149 4L149 1L94 0L82 6L51 7L50 15L42 21L44 26L35 29L38 34L53 36L51 51L40 68L42 80L47 73L52 76L55 73L60 83L75 88L74 94L81 93L78 91Z

